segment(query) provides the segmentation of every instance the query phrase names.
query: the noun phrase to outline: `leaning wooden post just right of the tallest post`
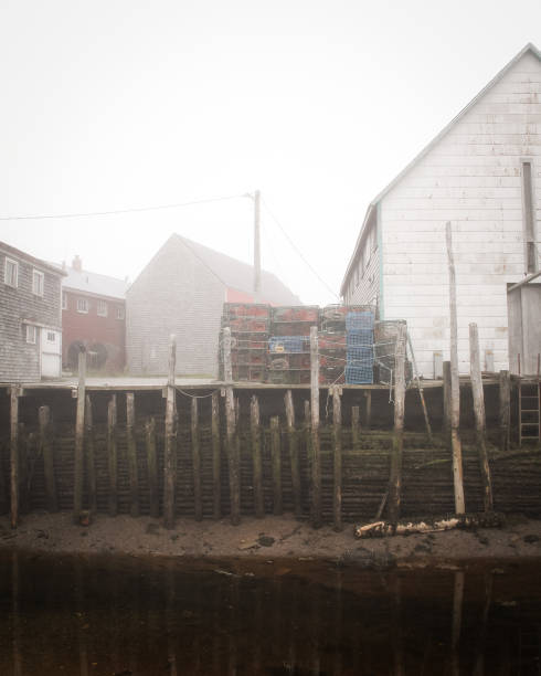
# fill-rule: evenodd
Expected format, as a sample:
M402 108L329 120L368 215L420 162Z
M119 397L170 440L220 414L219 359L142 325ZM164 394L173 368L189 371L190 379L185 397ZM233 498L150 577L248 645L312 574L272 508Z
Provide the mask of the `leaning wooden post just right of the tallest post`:
M477 324L469 325L469 360L471 373L471 392L474 394L475 429L479 450L479 465L482 477L482 503L485 511L492 511L492 482L487 452L487 429L485 419L485 395L482 392L481 366L479 358L479 332Z

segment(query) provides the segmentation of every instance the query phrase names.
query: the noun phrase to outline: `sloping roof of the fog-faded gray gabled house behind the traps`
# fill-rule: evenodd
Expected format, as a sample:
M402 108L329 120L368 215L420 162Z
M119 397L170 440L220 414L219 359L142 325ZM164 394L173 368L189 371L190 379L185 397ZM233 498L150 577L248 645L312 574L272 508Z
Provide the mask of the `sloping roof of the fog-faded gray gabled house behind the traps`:
M298 296L289 291L273 273L262 270L261 292L254 294L253 265L232 258L179 234L172 234L165 246L173 240L181 242L227 288L251 294L256 296L256 300L273 305L300 305Z

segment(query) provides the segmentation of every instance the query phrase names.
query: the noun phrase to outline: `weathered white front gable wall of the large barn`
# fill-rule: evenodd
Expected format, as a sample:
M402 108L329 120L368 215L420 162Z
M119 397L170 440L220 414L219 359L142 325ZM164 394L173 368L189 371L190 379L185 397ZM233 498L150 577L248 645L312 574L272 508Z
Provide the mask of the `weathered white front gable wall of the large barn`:
M526 273L523 159L532 161L539 240L541 63L531 52L381 201L385 319L407 320L426 377L434 351L448 359L446 221L453 224L459 369L469 369L470 321L479 327L481 357L491 350L496 370L509 366L506 284Z

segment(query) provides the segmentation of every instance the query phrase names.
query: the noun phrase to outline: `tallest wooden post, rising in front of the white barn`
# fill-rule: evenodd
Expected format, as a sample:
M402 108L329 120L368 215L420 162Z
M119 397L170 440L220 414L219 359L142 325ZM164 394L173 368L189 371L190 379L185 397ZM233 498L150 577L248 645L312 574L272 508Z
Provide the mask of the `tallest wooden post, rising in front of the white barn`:
M460 443L460 381L458 378L458 321L456 313L456 276L453 257L450 222L445 228L447 262L449 268L449 316L450 316L450 447L453 453L453 479L455 485L455 511L464 514L463 448Z

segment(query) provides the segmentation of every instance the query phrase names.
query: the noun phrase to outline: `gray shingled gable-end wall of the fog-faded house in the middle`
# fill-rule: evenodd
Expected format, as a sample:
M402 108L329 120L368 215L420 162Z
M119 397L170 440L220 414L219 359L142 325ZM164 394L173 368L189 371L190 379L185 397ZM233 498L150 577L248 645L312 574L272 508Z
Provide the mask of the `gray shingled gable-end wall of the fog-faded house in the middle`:
M131 374L167 373L177 336L178 373L218 373L222 282L171 237L126 295L126 353Z

